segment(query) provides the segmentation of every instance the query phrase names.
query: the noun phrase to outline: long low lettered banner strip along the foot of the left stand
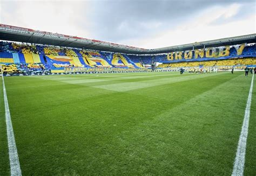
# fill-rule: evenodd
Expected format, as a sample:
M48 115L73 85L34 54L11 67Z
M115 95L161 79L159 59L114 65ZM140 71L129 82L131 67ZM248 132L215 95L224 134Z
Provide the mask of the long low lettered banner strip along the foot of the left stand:
M147 71L146 68L84 68L84 67L60 67L51 68L51 73L75 73L75 72L133 72Z

